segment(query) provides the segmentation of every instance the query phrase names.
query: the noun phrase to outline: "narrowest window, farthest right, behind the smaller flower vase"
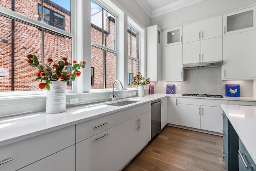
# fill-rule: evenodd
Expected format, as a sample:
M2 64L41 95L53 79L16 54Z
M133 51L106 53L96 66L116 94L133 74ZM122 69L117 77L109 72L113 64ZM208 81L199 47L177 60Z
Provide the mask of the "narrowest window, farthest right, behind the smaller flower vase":
M130 76L136 75L139 71L140 60L138 58L138 33L128 27L128 37L127 37L127 44L128 44L128 87L137 87L130 84Z

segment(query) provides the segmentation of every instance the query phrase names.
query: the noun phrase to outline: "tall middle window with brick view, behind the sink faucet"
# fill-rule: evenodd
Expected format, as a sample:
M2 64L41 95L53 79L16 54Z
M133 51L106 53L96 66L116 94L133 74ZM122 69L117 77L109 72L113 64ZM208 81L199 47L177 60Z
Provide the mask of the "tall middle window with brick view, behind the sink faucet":
M116 17L91 0L91 89L112 88L117 78Z

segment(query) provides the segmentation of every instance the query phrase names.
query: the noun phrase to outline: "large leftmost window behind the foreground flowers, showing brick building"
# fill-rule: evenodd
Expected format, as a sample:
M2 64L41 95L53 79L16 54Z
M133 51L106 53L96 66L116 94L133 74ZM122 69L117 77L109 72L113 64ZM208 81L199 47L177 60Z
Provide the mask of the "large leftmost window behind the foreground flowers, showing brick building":
M70 0L63 0L56 4L56 0L24 0L6 1L6 6L0 8L14 9L12 12L4 11L0 15L0 91L1 95L39 94L39 81L34 75L38 71L28 65L27 54L35 54L41 64L47 64L47 58L58 62L62 57L72 62L72 48L74 34L70 34ZM40 4L44 4L41 14ZM14 3L14 4L12 4ZM65 4L66 3L66 4ZM27 6L33 8L27 8ZM65 6L65 8L64 8ZM68 7L66 7L68 6ZM69 10L67 10L68 8ZM44 18L46 24L60 28L52 29L51 26L38 24L36 20ZM9 18L9 16L12 16ZM53 17L53 18L52 18ZM29 20L29 18L35 19ZM68 22L64 22L64 20ZM62 31L64 30L65 31ZM68 32L67 32L68 30ZM67 89L72 89L67 85ZM36 93L34 92L36 91ZM13 92L13 93L11 93ZM16 94L15 94L16 93Z

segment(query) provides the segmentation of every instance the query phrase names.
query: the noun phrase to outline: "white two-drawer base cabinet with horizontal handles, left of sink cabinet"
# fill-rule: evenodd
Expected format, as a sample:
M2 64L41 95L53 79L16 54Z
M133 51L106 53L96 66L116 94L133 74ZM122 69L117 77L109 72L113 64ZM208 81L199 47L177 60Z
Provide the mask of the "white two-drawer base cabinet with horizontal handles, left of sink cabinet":
M76 124L76 171L104 170L116 170L116 113Z

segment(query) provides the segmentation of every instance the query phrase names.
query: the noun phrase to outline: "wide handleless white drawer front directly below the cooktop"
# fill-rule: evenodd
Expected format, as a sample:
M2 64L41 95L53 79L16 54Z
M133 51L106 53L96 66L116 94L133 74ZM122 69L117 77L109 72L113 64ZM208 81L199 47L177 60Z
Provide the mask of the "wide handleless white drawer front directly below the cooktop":
M200 99L200 98L186 98L179 97L179 104L190 104L190 105L204 105L220 107L220 104L228 104L227 100L218 99Z

